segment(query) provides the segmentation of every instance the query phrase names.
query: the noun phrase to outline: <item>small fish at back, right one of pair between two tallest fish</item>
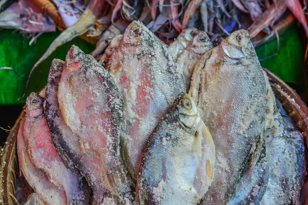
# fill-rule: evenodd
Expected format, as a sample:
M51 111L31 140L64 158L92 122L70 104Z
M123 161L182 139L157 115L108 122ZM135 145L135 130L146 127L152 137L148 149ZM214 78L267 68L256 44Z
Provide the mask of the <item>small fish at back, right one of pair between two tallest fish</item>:
M169 47L170 48L170 47ZM190 78L201 56L213 48L209 37L204 31L199 31L189 42L187 47L179 54L177 65L183 71L186 92L189 90Z

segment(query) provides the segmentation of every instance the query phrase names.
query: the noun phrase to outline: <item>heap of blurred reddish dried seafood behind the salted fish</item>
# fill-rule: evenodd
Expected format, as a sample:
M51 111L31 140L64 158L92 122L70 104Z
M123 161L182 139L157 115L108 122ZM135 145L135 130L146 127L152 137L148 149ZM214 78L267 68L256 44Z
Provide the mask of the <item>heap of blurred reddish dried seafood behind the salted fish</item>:
M182 30L196 27L206 31L212 43L246 29L257 46L279 37L295 19L308 36L306 10L305 0L2 0L0 28L29 33L33 37L30 44L56 27L64 30L33 66L28 85L33 70L57 47L81 36L97 44L91 54L98 57L133 20L142 22L167 44Z

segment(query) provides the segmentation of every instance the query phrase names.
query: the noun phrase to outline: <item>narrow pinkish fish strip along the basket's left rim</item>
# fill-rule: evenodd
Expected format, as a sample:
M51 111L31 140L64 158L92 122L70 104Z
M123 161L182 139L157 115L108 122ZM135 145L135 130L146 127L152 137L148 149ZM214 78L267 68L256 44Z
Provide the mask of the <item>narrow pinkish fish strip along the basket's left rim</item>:
M67 204L65 191L51 183L45 173L37 169L27 152L24 140L25 118L22 119L17 135L17 154L20 169L31 188L38 194L45 204Z

